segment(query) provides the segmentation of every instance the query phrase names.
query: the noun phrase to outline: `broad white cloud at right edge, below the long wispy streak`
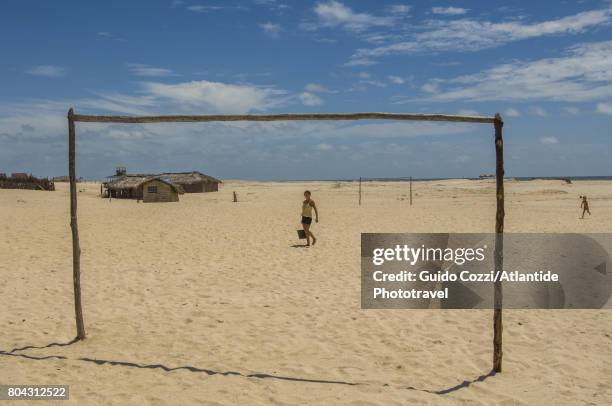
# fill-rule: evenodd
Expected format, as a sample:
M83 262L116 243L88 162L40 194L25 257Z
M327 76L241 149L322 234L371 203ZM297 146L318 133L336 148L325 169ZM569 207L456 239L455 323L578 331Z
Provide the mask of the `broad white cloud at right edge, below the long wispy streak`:
M583 102L611 97L611 82L612 41L595 42L571 47L558 58L506 63L473 75L438 80L446 89L430 100Z

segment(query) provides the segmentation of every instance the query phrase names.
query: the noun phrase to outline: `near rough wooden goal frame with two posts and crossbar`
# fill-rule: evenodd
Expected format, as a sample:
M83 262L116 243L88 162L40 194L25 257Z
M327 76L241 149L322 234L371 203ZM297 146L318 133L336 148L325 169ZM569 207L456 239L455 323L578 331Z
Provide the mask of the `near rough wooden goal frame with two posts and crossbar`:
M168 116L101 116L75 114L68 111L68 172L70 176L70 229L72 230L72 271L74 286L74 310L76 316L77 340L83 340L85 322L81 304L81 248L77 222L76 190L76 122L85 123L193 123L211 121L320 121L320 120L399 120L399 121L447 121L460 123L493 124L495 129L495 270L503 268L504 232L504 142L502 127L504 122L499 113L494 117L451 116L443 114L396 114L396 113L305 113L305 114L265 114L265 115L168 115ZM495 282L493 309L493 370L502 370L502 286Z

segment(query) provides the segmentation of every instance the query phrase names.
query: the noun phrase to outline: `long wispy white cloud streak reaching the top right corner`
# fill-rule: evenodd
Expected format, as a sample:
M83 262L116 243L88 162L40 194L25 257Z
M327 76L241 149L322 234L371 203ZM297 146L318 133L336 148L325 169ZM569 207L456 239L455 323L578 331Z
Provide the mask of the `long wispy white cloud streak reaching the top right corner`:
M612 8L585 11L537 23L523 21L490 22L474 19L433 20L424 28L408 34L406 40L375 48L358 49L349 66L375 63L375 58L394 54L438 51L478 51L509 42L547 35L577 34L612 22Z

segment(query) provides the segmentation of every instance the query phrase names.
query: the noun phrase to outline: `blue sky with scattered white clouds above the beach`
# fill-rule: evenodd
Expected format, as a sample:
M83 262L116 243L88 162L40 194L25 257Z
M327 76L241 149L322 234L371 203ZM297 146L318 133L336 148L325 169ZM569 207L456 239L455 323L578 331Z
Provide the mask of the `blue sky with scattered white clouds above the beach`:
M504 118L507 176L612 175L612 2L13 1L0 172L67 173L66 113ZM77 123L77 175L474 177L483 124Z

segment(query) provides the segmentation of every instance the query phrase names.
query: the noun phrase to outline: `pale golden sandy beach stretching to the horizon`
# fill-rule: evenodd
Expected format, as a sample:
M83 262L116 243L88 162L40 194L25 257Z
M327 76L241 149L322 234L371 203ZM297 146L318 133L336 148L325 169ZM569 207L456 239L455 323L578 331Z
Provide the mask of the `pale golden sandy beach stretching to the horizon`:
M507 232L612 230L612 182L505 187ZM1 383L68 384L62 405L612 404L610 309L505 311L495 376L490 310L361 310L361 232L492 232L492 180L415 182L412 206L405 182L366 183L361 206L356 182L225 181L160 204L78 189L88 338L69 345L67 184L0 190Z

